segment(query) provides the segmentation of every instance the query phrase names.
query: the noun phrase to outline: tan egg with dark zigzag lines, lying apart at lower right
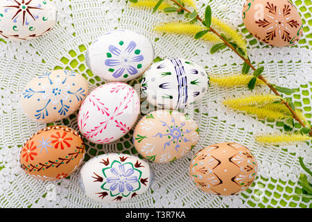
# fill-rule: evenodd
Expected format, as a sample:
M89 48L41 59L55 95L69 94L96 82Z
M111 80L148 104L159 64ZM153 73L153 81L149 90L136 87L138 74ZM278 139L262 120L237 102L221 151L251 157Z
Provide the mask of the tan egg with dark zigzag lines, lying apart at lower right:
M233 195L247 189L257 175L257 161L250 150L236 143L214 144L194 155L189 176L208 194Z

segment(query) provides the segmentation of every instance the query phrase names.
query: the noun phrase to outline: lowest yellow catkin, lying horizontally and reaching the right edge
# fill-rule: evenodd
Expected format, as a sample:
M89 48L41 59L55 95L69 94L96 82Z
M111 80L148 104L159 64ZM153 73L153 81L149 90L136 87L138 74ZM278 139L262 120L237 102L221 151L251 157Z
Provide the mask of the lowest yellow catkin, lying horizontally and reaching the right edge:
M295 144L298 142L308 142L312 139L309 135L301 135L299 133L293 134L267 134L267 135L259 135L256 136L255 139L257 142L261 142L263 144Z

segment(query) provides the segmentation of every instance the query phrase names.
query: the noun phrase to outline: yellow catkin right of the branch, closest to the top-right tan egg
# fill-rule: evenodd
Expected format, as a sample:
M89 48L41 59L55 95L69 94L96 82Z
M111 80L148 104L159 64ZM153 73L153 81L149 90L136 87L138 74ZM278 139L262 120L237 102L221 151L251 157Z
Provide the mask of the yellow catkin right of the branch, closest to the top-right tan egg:
M232 38L232 40L239 46L241 49L246 51L246 41L239 32L237 32L234 28L222 22L220 19L216 17L212 17L211 24L214 28L217 28L219 31L222 31L227 37Z

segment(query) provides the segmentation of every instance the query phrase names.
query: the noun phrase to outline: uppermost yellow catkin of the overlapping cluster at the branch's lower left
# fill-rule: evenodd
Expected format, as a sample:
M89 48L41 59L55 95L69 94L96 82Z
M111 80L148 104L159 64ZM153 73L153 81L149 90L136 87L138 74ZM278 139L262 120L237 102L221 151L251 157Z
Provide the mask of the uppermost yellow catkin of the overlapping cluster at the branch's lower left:
M247 114L254 114L259 119L285 119L289 118L290 116L287 114L284 114L283 112L276 112L274 110L268 110L261 107L254 107L254 106L241 106L234 108L234 110L240 110L243 112L246 112Z

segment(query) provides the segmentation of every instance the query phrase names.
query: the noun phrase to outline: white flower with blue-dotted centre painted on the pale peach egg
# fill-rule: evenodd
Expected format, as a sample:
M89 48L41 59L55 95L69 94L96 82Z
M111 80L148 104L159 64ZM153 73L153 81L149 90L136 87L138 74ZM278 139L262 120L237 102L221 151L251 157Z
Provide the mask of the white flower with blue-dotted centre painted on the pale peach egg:
M59 101L67 101L69 94L68 91L70 86L68 84L63 84L61 80L58 78L55 80L54 84L44 84L42 89L45 90L42 95L42 99L47 100L51 99L53 104L57 104Z

